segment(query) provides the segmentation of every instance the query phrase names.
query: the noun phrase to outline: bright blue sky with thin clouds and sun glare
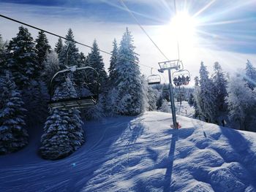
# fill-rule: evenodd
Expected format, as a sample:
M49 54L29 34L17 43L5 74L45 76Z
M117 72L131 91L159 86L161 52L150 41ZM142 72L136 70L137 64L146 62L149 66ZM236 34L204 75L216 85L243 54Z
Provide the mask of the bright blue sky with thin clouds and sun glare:
M75 39L91 45L97 39L99 48L110 52L113 39L118 42L128 27L134 37L135 52L143 74L158 73L159 61L179 58L192 79L198 75L201 61L210 73L214 62L229 72L245 68L246 60L256 66L256 1L255 0L124 0L129 10L153 39L159 49L127 12L120 0L0 0L0 14L65 36L72 28ZM171 20L186 12L191 22L177 28ZM180 22L178 22L180 23ZM189 28L193 23L193 28ZM12 39L18 23L0 18L0 34ZM29 28L34 38L37 30ZM56 37L47 35L54 47ZM180 36L180 37L178 37ZM179 47L179 54L177 49ZM87 54L89 48L78 46ZM102 53L105 69L110 56ZM149 67L146 67L146 66ZM166 74L162 78L167 80Z

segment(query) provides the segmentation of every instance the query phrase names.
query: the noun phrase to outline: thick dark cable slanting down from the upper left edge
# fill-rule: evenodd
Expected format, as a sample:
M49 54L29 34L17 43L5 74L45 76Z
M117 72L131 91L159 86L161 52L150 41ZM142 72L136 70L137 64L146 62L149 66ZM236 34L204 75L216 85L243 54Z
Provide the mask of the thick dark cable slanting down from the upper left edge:
M37 29L38 31L43 31L43 32L45 32L46 34L50 34L50 35L53 35L53 36L55 36L55 37L59 37L59 38L61 38L61 39L65 39L65 40L67 40L67 41L69 41L69 42L74 42L74 43L76 43L76 44L78 44L78 45L82 45L82 46L84 46L84 47L89 47L89 48L91 48L91 49L93 48L93 47L91 47L90 45L86 45L86 44L84 44L84 43L77 42L77 41L72 40L72 39L67 39L66 37L63 37L63 36L61 36L61 35L59 35L59 34L55 34L55 33L53 33L53 32L46 31L45 29L38 28L38 27L36 27L36 26L32 26L32 25L30 25L30 24L28 24L28 23L23 23L23 22L20 21L20 20L15 20L15 19L13 19L13 18L9 18L9 17L7 17L7 16L5 16L5 15L1 15L1 14L0 14L0 17L1 17L1 18L5 18L5 19L7 19L7 20L12 20L13 22L15 22L15 23L20 23L21 25L24 25L24 26L29 26L30 28ZM99 52L102 52L102 53L105 53L105 54L108 54L108 55L112 55L112 56L113 56L112 53L109 53L108 51L105 51L105 50L100 50L100 49L99 49ZM124 60L130 61L130 62L135 63L135 64L139 64L138 62L131 61L131 60L127 59L127 58L124 58ZM148 67L148 68L152 68L151 66L147 66L147 65L144 65L144 64L139 64L139 65L146 66L146 67ZM156 68L154 68L154 69L156 69Z

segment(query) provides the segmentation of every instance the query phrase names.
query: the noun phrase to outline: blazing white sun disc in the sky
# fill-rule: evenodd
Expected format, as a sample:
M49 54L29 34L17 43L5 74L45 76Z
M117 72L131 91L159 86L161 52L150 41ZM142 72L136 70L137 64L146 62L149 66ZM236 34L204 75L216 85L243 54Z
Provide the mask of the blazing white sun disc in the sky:
M169 28L178 41L193 42L197 20L190 16L188 12L178 12L170 21Z

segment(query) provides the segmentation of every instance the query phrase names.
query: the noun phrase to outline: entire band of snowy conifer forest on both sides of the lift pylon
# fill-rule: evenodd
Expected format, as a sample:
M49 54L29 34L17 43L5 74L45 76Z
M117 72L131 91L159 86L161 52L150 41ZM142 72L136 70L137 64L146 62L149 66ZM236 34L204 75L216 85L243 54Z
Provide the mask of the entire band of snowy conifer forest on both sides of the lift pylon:
M116 115L139 115L144 111L170 112L167 85L149 86L140 74L139 58L131 32L126 29L121 42L113 39L108 73L97 40L88 55L79 52L72 29L50 47L39 31L36 39L20 26L10 42L0 34L0 154L20 150L29 143L29 129L43 132L39 154L59 159L78 150L86 142L83 123ZM68 49L68 57L67 56ZM97 106L83 110L50 110L50 80L68 66L91 66L99 73ZM94 74L86 74L94 78ZM85 74L59 79L53 99L66 99L83 93ZM256 69L247 61L244 73L228 77L219 63L214 74L200 65L195 88L175 88L176 101L187 100L195 107L195 118L246 131L256 131ZM182 94L181 94L182 92ZM182 95L182 96L181 96Z

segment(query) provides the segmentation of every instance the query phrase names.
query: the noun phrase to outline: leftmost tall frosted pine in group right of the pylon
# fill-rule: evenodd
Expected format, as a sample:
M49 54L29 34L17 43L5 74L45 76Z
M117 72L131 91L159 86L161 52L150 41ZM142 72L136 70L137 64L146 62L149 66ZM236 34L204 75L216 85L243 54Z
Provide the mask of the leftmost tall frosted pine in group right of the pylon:
M202 115L207 122L217 122L217 104L216 96L214 94L214 82L208 77L208 71L203 62L200 65L200 99L201 106L198 106L200 115Z

